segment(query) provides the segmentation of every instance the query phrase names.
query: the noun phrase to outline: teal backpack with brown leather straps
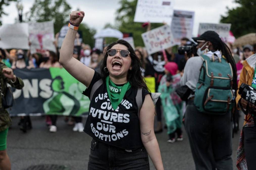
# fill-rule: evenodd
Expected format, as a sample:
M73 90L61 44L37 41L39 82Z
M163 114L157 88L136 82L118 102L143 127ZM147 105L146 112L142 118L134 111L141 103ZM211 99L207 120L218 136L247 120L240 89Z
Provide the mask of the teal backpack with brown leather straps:
M225 58L210 59L206 55L203 60L199 80L196 86L194 104L198 111L207 114L222 115L233 107L233 70Z

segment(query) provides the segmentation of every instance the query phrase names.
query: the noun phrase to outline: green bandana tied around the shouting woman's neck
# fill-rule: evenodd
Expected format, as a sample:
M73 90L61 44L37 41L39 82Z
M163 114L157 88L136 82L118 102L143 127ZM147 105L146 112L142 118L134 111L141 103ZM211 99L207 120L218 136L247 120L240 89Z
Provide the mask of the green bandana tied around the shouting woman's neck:
M128 81L123 86L116 86L108 76L106 77L106 86L111 105L116 110L117 106L123 100L125 93L131 88L131 84Z

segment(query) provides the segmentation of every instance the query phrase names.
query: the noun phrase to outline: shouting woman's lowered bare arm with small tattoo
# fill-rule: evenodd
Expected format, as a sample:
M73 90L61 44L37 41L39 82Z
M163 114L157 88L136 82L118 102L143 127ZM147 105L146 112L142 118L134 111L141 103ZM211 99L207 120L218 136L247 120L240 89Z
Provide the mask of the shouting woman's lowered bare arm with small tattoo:
M162 157L154 133L154 110L153 101L150 95L147 94L140 111L141 140L155 168L162 170L164 169Z

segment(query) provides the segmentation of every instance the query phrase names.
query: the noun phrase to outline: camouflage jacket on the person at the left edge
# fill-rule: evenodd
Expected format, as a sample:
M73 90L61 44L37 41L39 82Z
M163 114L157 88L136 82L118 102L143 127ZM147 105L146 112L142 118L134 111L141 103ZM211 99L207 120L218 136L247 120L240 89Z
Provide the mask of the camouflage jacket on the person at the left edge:
M24 83L22 79L17 77L16 81L12 83L9 79L7 79L3 74L3 68L8 68L2 60L0 61L0 86L2 86L2 91L4 95L6 94L6 87L7 83L10 84L12 87L16 89L22 89L24 86ZM3 109L2 105L2 97L0 95L0 132L4 129L8 128L12 124L12 120L9 116L9 113L6 109Z

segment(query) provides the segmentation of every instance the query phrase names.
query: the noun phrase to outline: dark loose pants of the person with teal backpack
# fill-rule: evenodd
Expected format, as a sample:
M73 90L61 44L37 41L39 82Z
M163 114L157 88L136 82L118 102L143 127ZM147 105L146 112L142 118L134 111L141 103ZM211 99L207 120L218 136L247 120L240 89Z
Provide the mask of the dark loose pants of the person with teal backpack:
M185 129L197 170L230 170L232 165L231 113L201 113L188 103Z

